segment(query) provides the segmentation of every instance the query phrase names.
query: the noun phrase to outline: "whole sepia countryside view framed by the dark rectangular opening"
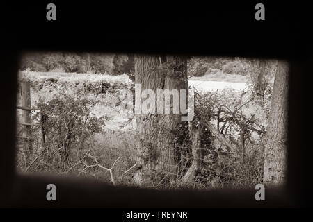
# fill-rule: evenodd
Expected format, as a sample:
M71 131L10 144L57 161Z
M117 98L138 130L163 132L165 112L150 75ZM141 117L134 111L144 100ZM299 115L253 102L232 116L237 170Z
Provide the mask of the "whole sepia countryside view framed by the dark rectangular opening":
M114 186L284 185L289 63L24 52L16 168Z

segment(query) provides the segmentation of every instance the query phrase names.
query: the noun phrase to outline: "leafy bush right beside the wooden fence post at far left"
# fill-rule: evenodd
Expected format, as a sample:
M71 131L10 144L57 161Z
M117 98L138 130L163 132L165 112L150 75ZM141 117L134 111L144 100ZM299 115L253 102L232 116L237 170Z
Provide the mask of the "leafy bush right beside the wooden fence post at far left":
M83 148L90 146L96 133L102 132L105 118L90 114L90 101L86 98L74 99L62 94L47 103L36 104L40 113L35 114L45 132L45 166L58 171L65 170L76 161Z

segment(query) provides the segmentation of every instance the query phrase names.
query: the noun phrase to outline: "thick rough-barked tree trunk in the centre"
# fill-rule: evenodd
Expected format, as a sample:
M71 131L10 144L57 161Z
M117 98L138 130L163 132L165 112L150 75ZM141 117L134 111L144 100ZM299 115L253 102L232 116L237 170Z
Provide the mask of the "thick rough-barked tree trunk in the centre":
M140 84L141 93L145 89L151 89L155 95L157 95L157 89L188 89L186 58L167 56L166 60L174 66L164 71L159 56L135 56L135 83ZM138 102L143 104L146 100L140 94L135 96L137 97L136 107L138 107ZM155 102L157 103L157 98ZM157 104L155 107L156 112L151 111L146 114L136 112L137 162L141 169L136 171L134 182L146 187L161 184L168 186L170 182L175 181L177 174L173 142L177 127L179 123L182 123L182 114L181 112L179 114L160 113ZM170 100L170 107L172 111L172 100Z

